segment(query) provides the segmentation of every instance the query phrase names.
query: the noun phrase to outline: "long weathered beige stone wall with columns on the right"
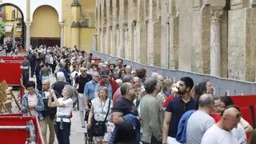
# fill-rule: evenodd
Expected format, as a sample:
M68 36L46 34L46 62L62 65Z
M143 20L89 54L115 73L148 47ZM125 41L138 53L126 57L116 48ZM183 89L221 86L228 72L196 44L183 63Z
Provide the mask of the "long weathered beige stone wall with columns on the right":
M255 0L98 0L96 50L254 82L255 6Z

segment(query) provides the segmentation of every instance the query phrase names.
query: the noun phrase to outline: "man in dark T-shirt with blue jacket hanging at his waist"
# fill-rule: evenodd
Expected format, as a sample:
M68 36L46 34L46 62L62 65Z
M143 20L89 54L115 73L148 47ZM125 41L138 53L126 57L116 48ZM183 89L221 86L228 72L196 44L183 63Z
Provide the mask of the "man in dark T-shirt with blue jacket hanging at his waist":
M137 144L140 142L140 123L138 110L133 103L134 86L129 82L122 83L121 94L123 97L114 104L112 109L115 128L109 143Z

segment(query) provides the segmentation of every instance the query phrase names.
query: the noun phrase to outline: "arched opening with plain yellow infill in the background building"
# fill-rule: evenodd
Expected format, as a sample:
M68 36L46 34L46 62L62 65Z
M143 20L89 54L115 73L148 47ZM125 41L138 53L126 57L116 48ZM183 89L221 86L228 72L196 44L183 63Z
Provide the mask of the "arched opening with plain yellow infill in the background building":
M58 12L52 6L39 6L33 14L31 46L60 46Z

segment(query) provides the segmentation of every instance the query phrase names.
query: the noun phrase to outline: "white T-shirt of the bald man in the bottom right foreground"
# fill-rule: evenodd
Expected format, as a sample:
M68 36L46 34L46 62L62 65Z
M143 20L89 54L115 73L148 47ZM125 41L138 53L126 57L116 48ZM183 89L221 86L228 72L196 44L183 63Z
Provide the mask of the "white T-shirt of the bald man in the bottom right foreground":
M222 130L214 124L203 135L201 144L239 144L239 142L231 131Z

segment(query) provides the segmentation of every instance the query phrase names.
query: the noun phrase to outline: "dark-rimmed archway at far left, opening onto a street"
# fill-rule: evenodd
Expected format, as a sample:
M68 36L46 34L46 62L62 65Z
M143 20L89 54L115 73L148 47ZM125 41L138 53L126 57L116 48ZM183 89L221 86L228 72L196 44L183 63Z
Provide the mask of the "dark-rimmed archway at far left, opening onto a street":
M0 18L5 24L0 44L6 44L8 49L18 47L24 50L26 37L22 10L12 3L3 3L0 5Z

